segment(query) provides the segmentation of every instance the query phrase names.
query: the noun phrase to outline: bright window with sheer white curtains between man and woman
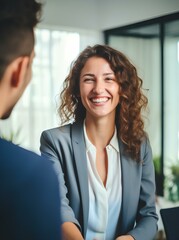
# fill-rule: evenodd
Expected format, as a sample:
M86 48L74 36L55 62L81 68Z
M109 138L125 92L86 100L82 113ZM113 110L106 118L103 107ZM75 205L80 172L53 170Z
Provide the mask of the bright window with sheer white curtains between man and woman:
M40 134L59 125L57 106L63 81L80 48L80 35L37 29L33 77L8 120L0 121L1 134L39 152ZM13 136L12 136L13 135Z

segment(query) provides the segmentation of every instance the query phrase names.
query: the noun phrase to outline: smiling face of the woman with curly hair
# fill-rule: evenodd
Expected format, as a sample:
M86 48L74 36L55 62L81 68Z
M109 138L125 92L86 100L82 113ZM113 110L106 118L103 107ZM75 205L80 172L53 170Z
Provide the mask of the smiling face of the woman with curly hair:
M87 60L80 74L80 97L86 118L115 118L119 84L109 63L100 57Z

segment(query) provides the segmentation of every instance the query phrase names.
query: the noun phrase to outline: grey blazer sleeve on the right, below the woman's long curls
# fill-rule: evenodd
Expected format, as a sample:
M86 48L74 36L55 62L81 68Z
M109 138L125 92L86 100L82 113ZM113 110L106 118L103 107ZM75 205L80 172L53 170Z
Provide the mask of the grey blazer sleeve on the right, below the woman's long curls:
M152 149L148 138L141 146L141 186L136 226L129 232L134 239L154 239L157 233L158 216L155 207L155 175Z

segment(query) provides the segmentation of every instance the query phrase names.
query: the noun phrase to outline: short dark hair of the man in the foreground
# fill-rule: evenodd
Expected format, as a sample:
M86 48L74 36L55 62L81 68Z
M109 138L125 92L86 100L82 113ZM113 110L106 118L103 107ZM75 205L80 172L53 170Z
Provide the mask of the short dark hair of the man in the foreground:
M31 54L40 18L36 0L0 0L0 79L14 59Z

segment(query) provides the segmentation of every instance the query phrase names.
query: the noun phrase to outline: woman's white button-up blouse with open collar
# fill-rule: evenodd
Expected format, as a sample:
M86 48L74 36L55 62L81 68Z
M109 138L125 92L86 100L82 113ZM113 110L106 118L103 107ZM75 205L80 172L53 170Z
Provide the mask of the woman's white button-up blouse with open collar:
M86 240L114 240L122 202L121 162L117 131L106 146L106 187L96 168L96 148L89 141L84 124L89 184L89 218Z

